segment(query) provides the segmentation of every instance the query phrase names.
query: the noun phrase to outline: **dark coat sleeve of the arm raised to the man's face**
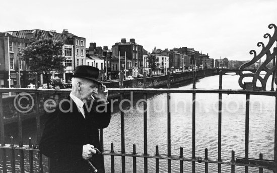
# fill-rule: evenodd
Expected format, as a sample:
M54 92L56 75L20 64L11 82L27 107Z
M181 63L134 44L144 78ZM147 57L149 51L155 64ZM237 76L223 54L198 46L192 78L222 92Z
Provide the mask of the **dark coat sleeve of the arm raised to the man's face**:
M111 120L111 102L107 104L93 102L92 111L89 112L89 118L92 125L98 129L104 129L109 126Z

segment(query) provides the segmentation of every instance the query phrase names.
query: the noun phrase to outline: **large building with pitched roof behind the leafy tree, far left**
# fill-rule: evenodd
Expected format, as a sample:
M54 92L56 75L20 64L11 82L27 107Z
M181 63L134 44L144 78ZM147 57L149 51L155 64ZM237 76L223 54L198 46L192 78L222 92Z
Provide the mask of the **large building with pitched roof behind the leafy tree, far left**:
M7 76L9 68L8 68L8 60L10 55L10 63L15 66L10 66L11 71L11 79L15 78L13 75L18 71L18 60L20 57L20 54L18 54L18 49L24 49L29 42L29 39L37 38L39 35L42 35L44 38L52 38L54 41L62 41L64 43L64 46L62 48L62 54L65 56L65 69L63 74L52 74L53 76L58 76L62 78L62 80L65 80L66 82L70 80L70 74L73 73L75 70L75 67L78 65L85 64L85 58L86 58L86 38L78 37L72 33L69 33L66 29L63 30L62 33L57 33L56 31L44 31L44 30L21 30L21 31L8 31L8 32L1 32L1 38L0 38L0 44L3 45L0 48L0 54L2 54L0 58L0 63L3 65L0 65L0 78L4 79L2 82L2 85L5 87L9 86L8 78ZM9 42L7 41L9 37ZM13 49L13 51L9 51L9 49ZM10 52L10 53L8 53ZM22 67L21 70L21 86L26 87L30 83L34 83L34 74L29 70L28 65L25 64L24 61L19 61L19 66ZM52 77L53 77L52 76ZM50 78L50 76L48 76ZM44 78L42 75L40 76L40 83L45 83L46 81L43 81ZM16 78L11 80L11 86L14 87L17 82Z

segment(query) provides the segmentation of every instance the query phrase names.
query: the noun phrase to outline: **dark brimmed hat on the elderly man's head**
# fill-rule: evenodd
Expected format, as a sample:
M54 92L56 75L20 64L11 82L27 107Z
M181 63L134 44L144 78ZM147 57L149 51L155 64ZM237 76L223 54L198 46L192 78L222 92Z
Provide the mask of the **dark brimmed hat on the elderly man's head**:
M99 69L92 66L77 66L72 75L72 77L85 78L101 84L101 82L98 81L98 76Z

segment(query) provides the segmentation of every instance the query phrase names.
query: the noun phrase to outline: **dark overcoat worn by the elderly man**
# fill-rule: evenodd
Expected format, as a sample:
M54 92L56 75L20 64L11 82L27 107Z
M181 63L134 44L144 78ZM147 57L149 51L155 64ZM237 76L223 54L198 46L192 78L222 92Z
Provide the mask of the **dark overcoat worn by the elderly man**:
M99 129L108 127L110 123L110 104L94 101L85 119L75 102L70 97L67 99L50 114L39 149L50 158L52 173L92 172L87 160L82 158L83 145L91 144L102 151ZM93 155L90 161L98 172L105 172L103 155Z

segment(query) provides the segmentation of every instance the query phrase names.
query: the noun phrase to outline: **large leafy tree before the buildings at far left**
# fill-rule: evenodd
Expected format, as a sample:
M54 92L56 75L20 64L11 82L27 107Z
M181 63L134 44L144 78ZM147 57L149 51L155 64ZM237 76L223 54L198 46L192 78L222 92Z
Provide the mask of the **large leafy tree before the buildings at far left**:
M62 41L54 42L53 39L44 39L40 36L29 42L29 45L23 49L22 57L30 70L38 74L45 74L47 88L49 88L48 74L52 71L62 73L64 71L62 56Z

